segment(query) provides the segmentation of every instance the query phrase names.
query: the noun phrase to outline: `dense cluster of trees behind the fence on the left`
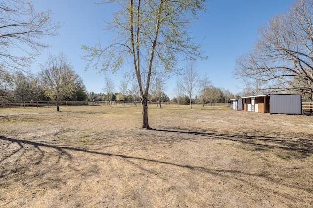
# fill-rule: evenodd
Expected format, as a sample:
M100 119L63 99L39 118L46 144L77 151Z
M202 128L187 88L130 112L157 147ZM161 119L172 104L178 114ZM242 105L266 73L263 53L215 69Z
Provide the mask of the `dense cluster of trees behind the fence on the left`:
M40 71L0 70L2 101L85 101L86 87L64 53L49 54Z

